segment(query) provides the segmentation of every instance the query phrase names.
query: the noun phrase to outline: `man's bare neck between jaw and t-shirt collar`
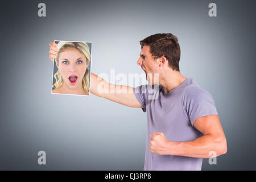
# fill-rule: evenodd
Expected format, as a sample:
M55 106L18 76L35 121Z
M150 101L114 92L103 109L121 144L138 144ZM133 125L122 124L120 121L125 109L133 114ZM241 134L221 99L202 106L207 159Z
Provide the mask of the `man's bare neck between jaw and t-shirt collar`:
M178 71L164 73L164 77L160 80L159 84L163 86L165 93L170 92L186 80Z

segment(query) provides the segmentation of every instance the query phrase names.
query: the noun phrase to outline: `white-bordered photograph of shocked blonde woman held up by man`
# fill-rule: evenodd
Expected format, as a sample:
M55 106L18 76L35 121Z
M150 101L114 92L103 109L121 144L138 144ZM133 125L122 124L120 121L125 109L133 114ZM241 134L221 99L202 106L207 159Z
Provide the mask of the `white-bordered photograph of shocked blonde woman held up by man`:
M89 96L91 43L55 40L52 47L52 93Z

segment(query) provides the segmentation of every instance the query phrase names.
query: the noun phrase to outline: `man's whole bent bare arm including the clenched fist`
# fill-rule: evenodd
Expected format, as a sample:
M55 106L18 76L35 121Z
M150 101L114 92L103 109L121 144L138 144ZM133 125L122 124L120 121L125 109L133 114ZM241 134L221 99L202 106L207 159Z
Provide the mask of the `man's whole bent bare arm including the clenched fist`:
M204 135L191 141L168 141L163 133L150 136L150 151L159 155L179 155L191 158L210 158L210 152L216 156L226 154L226 137L218 115L197 118L193 125Z

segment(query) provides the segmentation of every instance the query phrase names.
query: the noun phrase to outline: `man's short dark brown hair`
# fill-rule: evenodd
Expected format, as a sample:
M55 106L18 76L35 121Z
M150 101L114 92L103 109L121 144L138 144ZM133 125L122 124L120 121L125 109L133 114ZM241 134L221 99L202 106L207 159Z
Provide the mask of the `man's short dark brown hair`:
M139 42L141 49L143 46L150 46L150 52L154 59L166 57L170 67L175 71L180 71L180 45L176 36L168 34L154 34Z

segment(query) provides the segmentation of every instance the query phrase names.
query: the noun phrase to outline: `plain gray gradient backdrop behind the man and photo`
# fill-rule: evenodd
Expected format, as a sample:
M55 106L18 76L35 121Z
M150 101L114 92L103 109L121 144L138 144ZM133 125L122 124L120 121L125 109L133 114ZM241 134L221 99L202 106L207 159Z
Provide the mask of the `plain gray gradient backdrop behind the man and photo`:
M210 2L217 17L208 16ZM48 45L92 42L93 73L142 73L139 40L159 32L179 39L181 74L213 95L228 140L228 153L217 165L204 159L202 169L256 169L255 7L255 1L1 1L0 169L142 170L146 114L93 94L51 94ZM38 165L40 150L46 166Z

